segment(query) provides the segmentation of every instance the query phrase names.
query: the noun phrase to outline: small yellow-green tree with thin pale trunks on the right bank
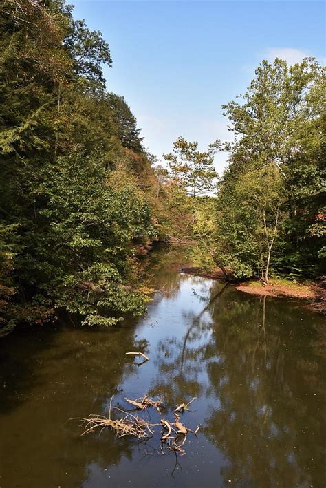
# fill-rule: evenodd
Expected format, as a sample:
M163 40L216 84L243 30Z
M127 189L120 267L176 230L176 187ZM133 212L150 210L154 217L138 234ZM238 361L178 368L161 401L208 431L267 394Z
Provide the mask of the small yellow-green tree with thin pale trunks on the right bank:
M260 275L268 284L270 261L279 237L282 180L274 165L241 174L217 199L215 239L237 276ZM230 209L232 205L232 209Z

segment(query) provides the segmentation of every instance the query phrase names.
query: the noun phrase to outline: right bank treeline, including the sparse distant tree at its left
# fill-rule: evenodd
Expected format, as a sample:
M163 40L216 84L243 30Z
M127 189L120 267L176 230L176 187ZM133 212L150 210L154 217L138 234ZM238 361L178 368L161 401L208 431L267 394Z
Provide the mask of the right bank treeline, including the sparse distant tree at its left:
M312 58L263 61L246 93L223 107L232 142L200 152L178 138L165 156L188 191L198 264L263 282L325 273L324 75ZM230 157L211 198L217 150Z

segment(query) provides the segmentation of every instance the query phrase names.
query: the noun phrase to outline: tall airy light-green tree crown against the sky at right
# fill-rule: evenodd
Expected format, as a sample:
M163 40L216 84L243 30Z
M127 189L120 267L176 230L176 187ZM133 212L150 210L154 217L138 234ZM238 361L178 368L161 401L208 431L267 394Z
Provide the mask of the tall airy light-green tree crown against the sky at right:
M247 166L272 162L286 177L285 165L303 149L298 136L314 118L306 104L322 70L312 58L290 67L276 58L274 63L262 61L255 74L243 103L222 106L235 133L232 153Z

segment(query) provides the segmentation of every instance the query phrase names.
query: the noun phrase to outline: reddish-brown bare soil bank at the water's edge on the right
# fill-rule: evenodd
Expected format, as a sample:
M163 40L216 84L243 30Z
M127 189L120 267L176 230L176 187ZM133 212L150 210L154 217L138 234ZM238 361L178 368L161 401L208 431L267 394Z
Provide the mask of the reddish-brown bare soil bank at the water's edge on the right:
M202 276L210 279L225 279L219 269L203 271L198 267L182 268L182 273ZM326 315L326 289L325 281L315 282L294 282L290 279L270 279L268 285L258 280L243 281L233 284L236 290L250 295L261 295L263 297L289 297L309 301L309 308Z

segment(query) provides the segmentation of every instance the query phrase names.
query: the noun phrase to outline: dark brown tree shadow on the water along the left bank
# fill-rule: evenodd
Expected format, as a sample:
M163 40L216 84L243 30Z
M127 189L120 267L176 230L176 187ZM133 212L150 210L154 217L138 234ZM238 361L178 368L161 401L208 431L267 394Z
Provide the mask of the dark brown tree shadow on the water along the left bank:
M122 393L134 370L124 353L146 350L134 331L49 326L1 341L1 488L79 486L89 452L102 465L131 458L133 444L109 432L80 442L80 422L69 419L102 413Z

